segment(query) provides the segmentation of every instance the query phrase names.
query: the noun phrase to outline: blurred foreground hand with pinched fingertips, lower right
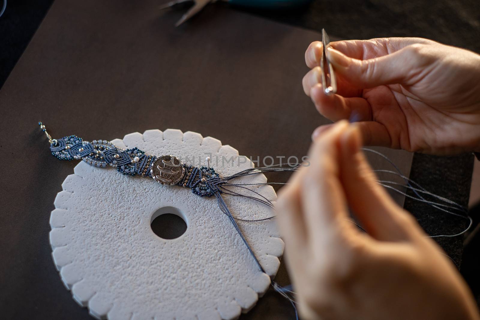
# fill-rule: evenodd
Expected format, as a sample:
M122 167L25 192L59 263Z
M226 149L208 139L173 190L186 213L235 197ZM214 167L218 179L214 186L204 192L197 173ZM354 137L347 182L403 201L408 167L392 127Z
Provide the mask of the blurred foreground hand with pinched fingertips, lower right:
M442 249L375 182L360 140L347 121L324 130L278 197L302 319L479 319Z

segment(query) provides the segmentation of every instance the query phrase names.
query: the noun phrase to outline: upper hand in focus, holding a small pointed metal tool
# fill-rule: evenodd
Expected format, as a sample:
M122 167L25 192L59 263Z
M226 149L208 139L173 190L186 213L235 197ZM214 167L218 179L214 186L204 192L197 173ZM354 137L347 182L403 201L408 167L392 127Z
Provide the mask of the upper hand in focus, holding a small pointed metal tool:
M480 151L480 55L422 38L332 42L327 57L338 92L327 96L322 50L313 42L305 53L312 70L303 89L324 117L360 121L365 144L430 154Z

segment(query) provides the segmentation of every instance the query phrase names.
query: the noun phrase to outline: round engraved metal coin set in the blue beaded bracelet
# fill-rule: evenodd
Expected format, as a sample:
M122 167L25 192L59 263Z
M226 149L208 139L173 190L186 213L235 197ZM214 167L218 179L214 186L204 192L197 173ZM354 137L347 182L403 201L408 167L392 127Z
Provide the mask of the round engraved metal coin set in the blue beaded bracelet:
M155 181L165 185L178 183L185 174L185 168L180 159L173 155L158 157L150 171Z

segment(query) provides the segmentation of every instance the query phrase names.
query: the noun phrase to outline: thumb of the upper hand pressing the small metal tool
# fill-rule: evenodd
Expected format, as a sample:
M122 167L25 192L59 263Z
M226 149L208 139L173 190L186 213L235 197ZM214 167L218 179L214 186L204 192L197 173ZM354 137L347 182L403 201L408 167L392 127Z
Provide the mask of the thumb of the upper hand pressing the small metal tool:
M360 60L347 57L342 52L329 47L327 58L349 83L359 88L373 88L383 84L411 84L420 67L428 62L421 54L425 45L413 44L392 54Z

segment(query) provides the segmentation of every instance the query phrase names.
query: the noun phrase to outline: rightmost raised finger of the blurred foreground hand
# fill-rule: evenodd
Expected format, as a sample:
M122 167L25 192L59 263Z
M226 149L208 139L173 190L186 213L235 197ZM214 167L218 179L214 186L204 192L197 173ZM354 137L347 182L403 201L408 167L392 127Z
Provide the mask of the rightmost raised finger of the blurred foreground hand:
M372 237L382 241L412 238L416 222L375 181L360 151L360 137L360 130L352 125L340 139L340 179L348 205Z

